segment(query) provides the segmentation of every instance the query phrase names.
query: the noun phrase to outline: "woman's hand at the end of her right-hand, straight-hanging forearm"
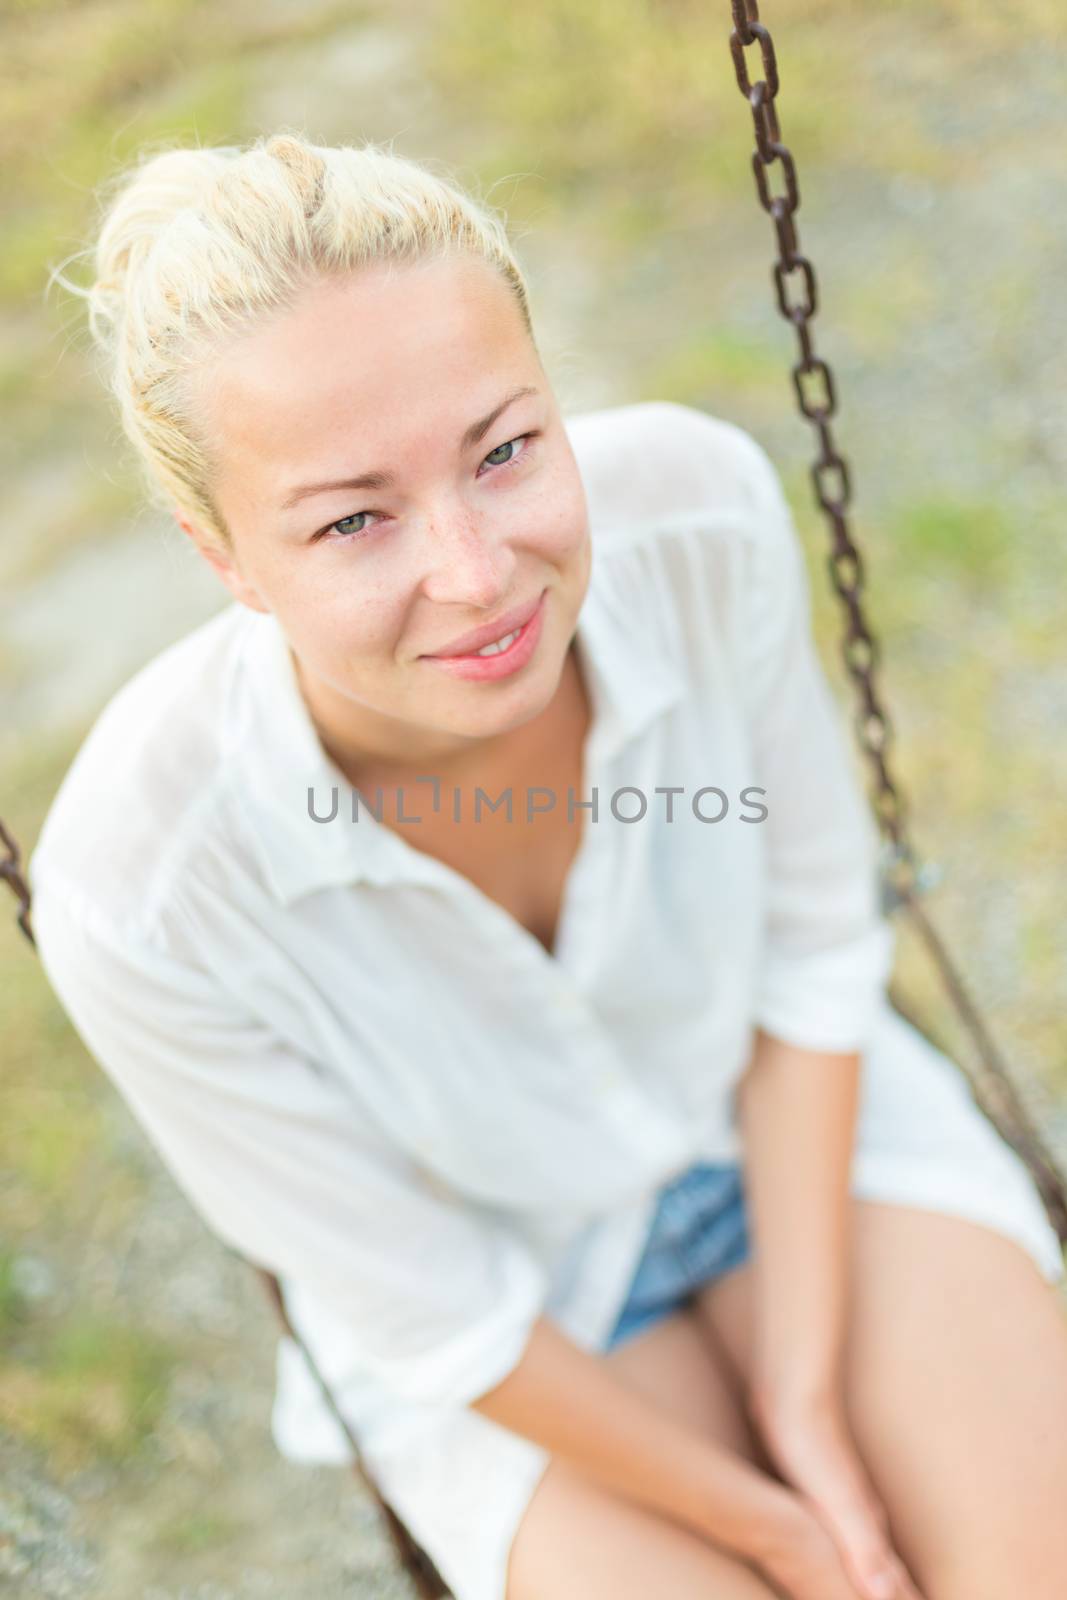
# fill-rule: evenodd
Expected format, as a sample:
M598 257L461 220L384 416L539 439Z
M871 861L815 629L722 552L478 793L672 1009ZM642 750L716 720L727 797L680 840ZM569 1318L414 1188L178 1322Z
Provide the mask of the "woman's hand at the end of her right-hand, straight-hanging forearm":
M829 1536L848 1574L848 1590L862 1600L921 1600L889 1541L889 1523L870 1478L859 1459L841 1403L821 1398L773 1400L765 1390L753 1390L749 1408L752 1421L784 1480L800 1491L805 1506ZM811 1530L801 1530L801 1560L817 1555ZM808 1554L809 1552L809 1554ZM825 1552L824 1552L825 1554ZM789 1562L789 1549L784 1552ZM789 1587L789 1573L774 1581ZM813 1589L837 1595L837 1589ZM798 1595L806 1590L798 1589Z

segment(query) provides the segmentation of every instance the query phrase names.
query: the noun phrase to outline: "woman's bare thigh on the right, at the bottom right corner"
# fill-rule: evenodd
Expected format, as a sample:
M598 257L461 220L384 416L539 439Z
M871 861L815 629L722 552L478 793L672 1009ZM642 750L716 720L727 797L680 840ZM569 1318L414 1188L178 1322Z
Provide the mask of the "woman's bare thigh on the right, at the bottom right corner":
M744 1376L752 1267L696 1310ZM1022 1246L854 1202L845 1376L857 1448L928 1600L1067 1594L1067 1323Z

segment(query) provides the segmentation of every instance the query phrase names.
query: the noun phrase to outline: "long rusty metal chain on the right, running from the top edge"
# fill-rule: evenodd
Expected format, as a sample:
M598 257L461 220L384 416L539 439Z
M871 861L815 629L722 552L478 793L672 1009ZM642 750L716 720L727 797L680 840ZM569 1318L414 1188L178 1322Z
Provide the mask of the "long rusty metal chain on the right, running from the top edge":
M926 862L920 866L909 838L907 805L889 774L889 744L893 722L875 688L881 653L872 637L861 605L864 590L864 562L849 526L848 507L853 498L853 482L848 462L833 442L830 419L837 413L833 374L825 360L816 355L811 338L811 322L819 309L816 274L808 256L800 251L795 216L800 210L800 186L797 165L782 142L777 117L779 74L774 40L760 22L758 0L731 0L733 32L729 53L734 62L737 88L752 109L755 126L755 150L752 170L760 205L774 222L777 261L774 262L774 288L782 317L797 330L800 360L792 368L793 387L801 414L816 429L819 451L811 467L811 480L819 507L830 523L832 547L827 557L830 582L846 613L841 656L845 667L859 693L859 709L854 717L856 738L875 774L872 806L883 835L881 904L885 912L904 907L926 949L941 970L949 994L974 1040L979 1067L968 1075L981 1109L1022 1157L1041 1192L1045 1208L1059 1240L1067 1245L1067 1182L1045 1141L1033 1126L1022 1104L1006 1062L971 998L963 978L952 963L949 950L933 928L929 917L918 904L939 877L941 867ZM763 77L753 83L749 75L745 51L758 45ZM769 170L781 166L784 194L773 194ZM790 299L790 285L795 298ZM897 1010L904 1010L897 1005Z

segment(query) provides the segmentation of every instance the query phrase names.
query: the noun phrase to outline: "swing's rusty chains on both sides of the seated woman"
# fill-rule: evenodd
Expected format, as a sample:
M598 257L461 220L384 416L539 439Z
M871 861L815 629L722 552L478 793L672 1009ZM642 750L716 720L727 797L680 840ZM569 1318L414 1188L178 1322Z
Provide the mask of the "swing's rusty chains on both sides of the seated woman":
M971 998L963 979L955 968L947 947L933 928L926 912L920 906L920 896L926 893L941 877L936 864L920 864L907 830L907 808L899 787L893 782L886 752L893 736L891 720L880 701L873 677L880 662L880 650L872 637L861 606L864 589L864 563L859 549L853 542L846 510L851 501L851 477L843 456L837 451L830 429L830 418L837 411L833 376L825 360L814 354L809 323L817 310L817 286L811 261L800 253L798 235L793 216L800 208L800 190L797 186L797 168L789 149L781 142L781 130L776 110L779 90L777 62L771 34L760 22L758 0L731 0L733 30L729 35L729 51L734 62L737 86L752 109L757 147L752 152L752 168L755 173L760 205L774 222L777 235L777 261L773 277L776 285L777 307L782 317L797 330L800 344L800 360L792 368L793 389L801 414L814 424L819 438L817 458L811 467L816 501L825 512L832 526L832 549L827 558L830 582L841 598L846 611L846 632L841 643L845 667L859 691L859 712L854 720L856 738L864 757L875 773L875 789L872 806L881 834L880 885L881 909L886 915L905 910L912 925L920 933L925 947L937 965L949 995L961 1016L977 1050L979 1064L963 1067L971 1091L979 1109L992 1122L993 1128L1009 1144L1027 1165L1030 1176L1041 1195L1048 1218L1059 1235L1061 1245L1067 1246L1067 1181L1057 1170L1056 1160L1033 1125L1011 1074L997 1050L993 1038ZM749 77L745 50L758 43L765 77L752 83ZM776 162L782 166L785 194L773 195L768 184L768 168ZM800 277L800 298L790 301L787 282ZM797 291L797 285L793 288ZM30 926L30 891L21 874L21 858L16 842L0 821L0 843L6 856L0 858L0 878L5 878L19 901L18 925L35 946ZM931 1045L936 1042L929 1032L907 1011L896 986L888 987L888 1000L893 1008L909 1021ZM323 1402L334 1421L341 1427L350 1450L357 1477L363 1482L371 1498L378 1502L386 1528L392 1539L400 1563L406 1568L416 1594L422 1600L453 1600L451 1590L438 1573L427 1552L411 1536L397 1512L386 1501L368 1469L363 1464L358 1442L352 1427L346 1421L336 1403L330 1386L318 1371L304 1341L290 1322L282 1286L277 1277L264 1267L253 1266L262 1280L283 1333L293 1339L307 1362L309 1371L322 1390Z

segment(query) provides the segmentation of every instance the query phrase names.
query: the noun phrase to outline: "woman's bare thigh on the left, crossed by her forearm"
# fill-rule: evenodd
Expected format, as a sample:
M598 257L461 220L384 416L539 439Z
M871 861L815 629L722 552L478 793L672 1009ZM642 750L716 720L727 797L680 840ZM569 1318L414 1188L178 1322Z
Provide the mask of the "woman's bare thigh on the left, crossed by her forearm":
M616 1376L750 1461L761 1456L729 1374L693 1310L675 1312L608 1350ZM771 1600L750 1568L680 1523L625 1501L552 1459L526 1506L507 1563L507 1600Z

